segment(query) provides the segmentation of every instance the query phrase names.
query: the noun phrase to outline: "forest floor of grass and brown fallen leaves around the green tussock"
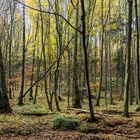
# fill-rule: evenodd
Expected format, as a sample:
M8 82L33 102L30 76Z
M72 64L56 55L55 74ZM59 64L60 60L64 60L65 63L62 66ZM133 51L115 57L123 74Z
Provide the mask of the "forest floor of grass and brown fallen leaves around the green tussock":
M13 102L13 101L12 101ZM130 117L122 116L122 102L95 107L97 121L89 123L89 113L69 110L61 102L61 111L50 112L47 104L15 106L12 114L0 115L0 140L140 140L140 113L130 107ZM85 105L86 109L86 104ZM54 117L64 115L79 124L74 131L54 130Z

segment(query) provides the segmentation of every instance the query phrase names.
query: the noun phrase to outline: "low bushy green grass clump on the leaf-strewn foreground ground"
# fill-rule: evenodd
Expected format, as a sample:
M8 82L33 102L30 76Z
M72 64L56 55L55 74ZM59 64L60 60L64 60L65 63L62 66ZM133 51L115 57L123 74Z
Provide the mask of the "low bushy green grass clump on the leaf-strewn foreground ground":
M52 121L52 126L53 129L75 130L78 126L78 123L72 118L68 118L66 116L57 116Z

